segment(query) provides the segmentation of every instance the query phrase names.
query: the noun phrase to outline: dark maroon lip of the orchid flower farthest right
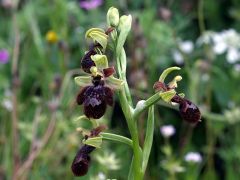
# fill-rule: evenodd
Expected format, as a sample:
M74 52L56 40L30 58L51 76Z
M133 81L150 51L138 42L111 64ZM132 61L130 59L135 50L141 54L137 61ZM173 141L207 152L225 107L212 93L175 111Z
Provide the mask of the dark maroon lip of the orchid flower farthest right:
M172 102L179 104L180 115L185 121L192 124L200 121L201 112L191 101L176 95L172 98Z

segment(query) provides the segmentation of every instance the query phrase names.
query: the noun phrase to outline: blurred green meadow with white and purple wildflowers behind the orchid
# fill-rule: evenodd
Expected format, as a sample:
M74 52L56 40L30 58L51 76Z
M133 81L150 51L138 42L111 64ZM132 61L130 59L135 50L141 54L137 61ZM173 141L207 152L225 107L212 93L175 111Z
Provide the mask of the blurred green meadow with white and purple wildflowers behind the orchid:
M80 59L88 46L85 32L106 28L111 6L133 16L125 45L133 100L153 94L159 74L177 65L184 79L178 91L203 114L202 122L192 128L176 110L159 102L145 179L236 179L240 172L237 0L1 0L0 179L74 178L70 166L82 139L80 131L90 124L77 120L82 109L76 106L79 89L73 79L80 75ZM118 101L101 121L110 131L129 136ZM145 123L142 117L141 144ZM164 131L164 125L172 130ZM104 141L82 179L126 179L131 156L129 147Z

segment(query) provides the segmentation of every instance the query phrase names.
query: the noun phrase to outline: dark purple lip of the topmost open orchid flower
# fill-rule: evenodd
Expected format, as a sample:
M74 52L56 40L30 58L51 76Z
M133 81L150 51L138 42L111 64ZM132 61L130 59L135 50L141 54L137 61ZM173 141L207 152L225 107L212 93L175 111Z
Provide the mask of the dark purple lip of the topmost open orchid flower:
M92 66L95 66L94 61L91 59L92 55L95 55L96 51L94 49L91 49L90 51L88 51L82 58L81 60L81 67L83 69L84 72L86 73L91 73L90 72L90 68Z

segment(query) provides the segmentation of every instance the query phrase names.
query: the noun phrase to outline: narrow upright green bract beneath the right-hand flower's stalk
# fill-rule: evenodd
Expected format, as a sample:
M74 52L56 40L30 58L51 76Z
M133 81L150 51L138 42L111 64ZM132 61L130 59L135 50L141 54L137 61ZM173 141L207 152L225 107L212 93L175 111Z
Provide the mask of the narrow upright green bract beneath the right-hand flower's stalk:
M151 153L153 134L154 134L154 106L151 106L148 109L147 130L143 146L143 162L142 162L143 172L145 172L147 168L148 159Z

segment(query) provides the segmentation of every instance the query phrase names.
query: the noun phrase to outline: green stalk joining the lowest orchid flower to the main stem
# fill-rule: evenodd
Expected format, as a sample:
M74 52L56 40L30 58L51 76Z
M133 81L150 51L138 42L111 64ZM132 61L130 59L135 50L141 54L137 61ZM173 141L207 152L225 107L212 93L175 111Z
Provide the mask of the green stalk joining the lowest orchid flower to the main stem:
M127 144L131 148L133 147L132 140L127 137L117 135L117 134L112 134L112 133L104 133L104 132L101 133L101 136L103 137L103 139L121 142L121 143Z

